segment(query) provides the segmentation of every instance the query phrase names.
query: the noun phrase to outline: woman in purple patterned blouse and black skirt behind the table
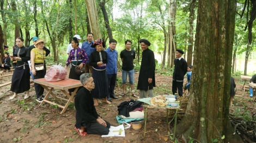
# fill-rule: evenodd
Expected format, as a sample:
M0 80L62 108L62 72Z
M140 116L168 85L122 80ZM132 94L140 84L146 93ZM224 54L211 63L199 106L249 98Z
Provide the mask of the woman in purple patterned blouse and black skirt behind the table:
M69 72L69 79L74 79L74 80L80 80L80 75L76 74L75 72L75 67L76 63L77 66L79 66L80 69L83 68L83 65L86 64L88 57L84 49L81 49L78 47L79 42L76 37L73 38L71 41L71 46L73 49L69 53L68 60L66 60L66 67L69 66L69 64L72 64L72 67L70 68ZM78 61L78 62L77 62ZM74 92L75 88L69 89L69 95L71 95L72 92Z

